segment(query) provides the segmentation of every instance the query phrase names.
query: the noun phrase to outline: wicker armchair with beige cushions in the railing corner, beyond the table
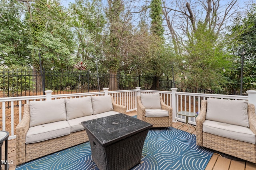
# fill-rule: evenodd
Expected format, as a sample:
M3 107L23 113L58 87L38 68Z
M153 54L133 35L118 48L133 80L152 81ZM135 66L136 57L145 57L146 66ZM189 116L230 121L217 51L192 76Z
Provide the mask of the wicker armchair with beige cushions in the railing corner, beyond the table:
M159 93L137 96L137 118L153 127L172 127L172 107L164 104Z

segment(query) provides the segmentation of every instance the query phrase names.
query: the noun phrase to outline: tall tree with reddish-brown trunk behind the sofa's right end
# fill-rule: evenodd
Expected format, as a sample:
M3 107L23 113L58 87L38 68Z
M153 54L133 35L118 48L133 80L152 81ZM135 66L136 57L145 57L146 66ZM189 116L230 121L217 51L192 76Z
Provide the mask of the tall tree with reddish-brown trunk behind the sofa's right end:
M126 4L126 6L125 6ZM104 65L110 70L110 90L117 89L116 76L118 70L125 64L129 43L132 35L132 14L134 2L132 0L108 0L106 18L108 30L104 39Z

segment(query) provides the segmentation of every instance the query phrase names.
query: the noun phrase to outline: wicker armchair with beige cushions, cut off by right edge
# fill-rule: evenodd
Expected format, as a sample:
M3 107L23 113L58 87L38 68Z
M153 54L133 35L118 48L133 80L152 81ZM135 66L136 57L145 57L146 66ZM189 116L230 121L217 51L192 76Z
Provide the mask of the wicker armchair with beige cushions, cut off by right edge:
M245 100L202 100L196 117L196 145L256 163L255 134L253 104Z

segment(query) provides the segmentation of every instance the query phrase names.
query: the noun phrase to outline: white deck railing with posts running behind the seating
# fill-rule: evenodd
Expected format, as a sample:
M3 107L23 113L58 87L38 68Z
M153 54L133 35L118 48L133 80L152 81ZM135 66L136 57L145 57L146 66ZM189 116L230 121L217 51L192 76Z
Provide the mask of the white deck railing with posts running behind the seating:
M172 91L156 91L156 90L140 90L137 87L134 90L118 90L108 91L108 88L103 88L103 92L90 93L76 93L76 94L56 94L52 95L52 91L46 91L46 95L41 96L24 96L0 98L0 112L2 112L2 121L0 121L0 130L9 131L9 139L16 138L15 127L16 122L22 119L23 106L30 101L36 100L54 100L58 98L80 98L85 96L102 96L110 94L113 96L116 104L126 106L127 112L134 111L137 108L137 97L140 93L160 93L164 103L171 106L173 109L173 121L185 121L185 117L178 116L176 113L181 110L192 111L194 113L200 112L200 102L208 97L210 98L224 98L231 100L249 100L249 103L256 104L256 91L249 90L248 96L234 96L234 95L219 95L219 94L198 94L176 92L176 88ZM1 107L2 105L2 107ZM195 125L195 119L189 119L189 122Z

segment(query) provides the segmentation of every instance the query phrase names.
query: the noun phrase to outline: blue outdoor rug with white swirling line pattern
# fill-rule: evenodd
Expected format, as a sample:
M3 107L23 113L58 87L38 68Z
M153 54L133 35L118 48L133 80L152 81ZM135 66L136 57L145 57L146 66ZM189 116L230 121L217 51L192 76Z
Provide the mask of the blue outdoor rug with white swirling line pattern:
M196 136L173 127L150 129L142 162L132 170L204 170L212 152L196 145ZM86 142L22 164L16 170L98 170Z

